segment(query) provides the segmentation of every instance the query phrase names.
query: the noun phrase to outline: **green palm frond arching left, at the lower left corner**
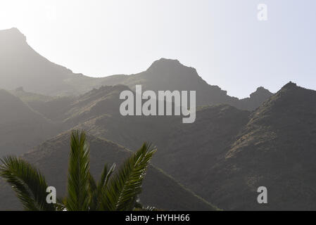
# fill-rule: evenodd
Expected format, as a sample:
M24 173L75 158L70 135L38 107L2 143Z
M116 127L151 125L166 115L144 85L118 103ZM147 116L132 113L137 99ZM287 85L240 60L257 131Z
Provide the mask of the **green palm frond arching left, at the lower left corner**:
M1 163L0 176L11 184L25 210L56 210L53 204L46 203L47 184L38 169L15 156L1 159Z

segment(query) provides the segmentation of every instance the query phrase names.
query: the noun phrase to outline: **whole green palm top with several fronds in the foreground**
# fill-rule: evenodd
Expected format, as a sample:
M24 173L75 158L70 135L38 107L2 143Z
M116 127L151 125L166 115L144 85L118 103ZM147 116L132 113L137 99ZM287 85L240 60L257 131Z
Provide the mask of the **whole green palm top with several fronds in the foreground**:
M148 163L156 149L146 143L117 172L105 165L101 179L90 174L89 146L84 131L72 131L68 166L68 195L56 204L46 203L46 180L33 165L15 156L1 159L0 176L15 191L25 210L134 210Z

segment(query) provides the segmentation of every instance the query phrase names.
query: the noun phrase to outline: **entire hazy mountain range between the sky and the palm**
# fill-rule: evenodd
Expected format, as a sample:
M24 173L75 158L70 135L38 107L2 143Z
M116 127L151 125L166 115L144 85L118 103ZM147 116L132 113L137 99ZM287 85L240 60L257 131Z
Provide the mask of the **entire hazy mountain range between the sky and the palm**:
M61 193L68 131L85 129L94 174L104 161L122 162L144 141L158 147L141 195L147 205L316 210L316 91L289 82L276 94L259 87L238 99L207 84L194 68L165 58L136 75L87 77L40 56L15 28L0 31L0 49L0 88L6 89L0 91L0 155L23 154ZM123 117L119 94L136 84L196 90L196 122ZM267 187L266 205L257 203L258 186ZM0 188L0 209L19 208L3 181Z

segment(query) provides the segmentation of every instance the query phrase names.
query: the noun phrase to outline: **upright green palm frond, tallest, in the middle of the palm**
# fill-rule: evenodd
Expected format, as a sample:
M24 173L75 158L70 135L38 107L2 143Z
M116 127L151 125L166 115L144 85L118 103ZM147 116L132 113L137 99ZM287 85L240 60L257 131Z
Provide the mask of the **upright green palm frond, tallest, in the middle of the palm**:
M72 131L68 167L68 211L89 210L90 182L89 146L84 131Z

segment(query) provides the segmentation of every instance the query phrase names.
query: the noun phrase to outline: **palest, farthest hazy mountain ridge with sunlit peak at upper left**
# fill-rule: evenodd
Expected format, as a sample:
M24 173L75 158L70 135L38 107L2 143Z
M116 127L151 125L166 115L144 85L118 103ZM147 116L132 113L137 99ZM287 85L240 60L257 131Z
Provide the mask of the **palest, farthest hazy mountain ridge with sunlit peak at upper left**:
M136 84L141 84L144 90L196 91L197 105L227 103L247 110L258 108L268 97L265 91L257 91L249 99L239 101L219 86L206 83L194 68L165 58L135 75L93 78L75 74L40 56L16 28L0 31L0 48L0 88L3 89L23 86L25 91L35 94L77 96L100 86L125 84L134 90Z

